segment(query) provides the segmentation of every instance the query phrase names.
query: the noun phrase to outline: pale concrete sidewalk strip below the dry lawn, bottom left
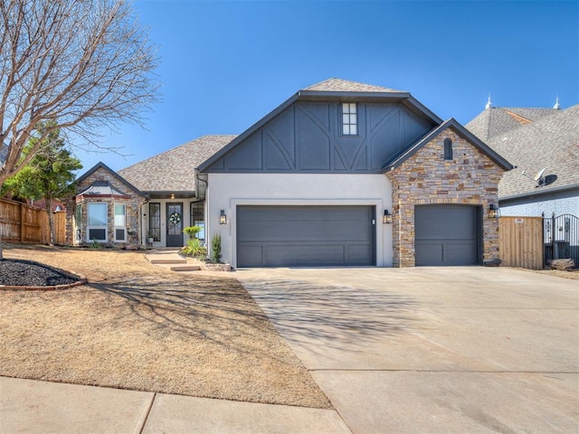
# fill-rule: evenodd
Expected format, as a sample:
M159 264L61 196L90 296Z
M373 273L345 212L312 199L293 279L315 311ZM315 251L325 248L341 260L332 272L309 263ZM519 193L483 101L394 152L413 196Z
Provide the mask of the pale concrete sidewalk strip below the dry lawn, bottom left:
M351 433L335 410L0 377L3 433Z

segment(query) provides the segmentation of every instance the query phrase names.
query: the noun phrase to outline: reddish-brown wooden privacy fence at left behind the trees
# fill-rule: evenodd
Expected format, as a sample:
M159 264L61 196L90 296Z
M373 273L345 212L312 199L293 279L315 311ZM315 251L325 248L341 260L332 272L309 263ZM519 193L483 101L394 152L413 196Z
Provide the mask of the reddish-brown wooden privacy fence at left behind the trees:
M55 212L56 244L66 241L65 225L66 212ZM7 242L49 243L48 213L26 203L0 199L0 235Z

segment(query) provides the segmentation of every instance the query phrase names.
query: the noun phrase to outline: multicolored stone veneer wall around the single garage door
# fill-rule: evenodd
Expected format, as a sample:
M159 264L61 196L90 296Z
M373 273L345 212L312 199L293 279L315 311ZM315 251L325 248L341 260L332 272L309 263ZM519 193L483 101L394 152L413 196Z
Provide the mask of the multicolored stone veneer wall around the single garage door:
M444 139L452 140L452 160L444 159ZM387 173L392 181L394 267L413 267L414 205L464 203L483 207L483 260L498 259L498 182L504 171L451 128Z

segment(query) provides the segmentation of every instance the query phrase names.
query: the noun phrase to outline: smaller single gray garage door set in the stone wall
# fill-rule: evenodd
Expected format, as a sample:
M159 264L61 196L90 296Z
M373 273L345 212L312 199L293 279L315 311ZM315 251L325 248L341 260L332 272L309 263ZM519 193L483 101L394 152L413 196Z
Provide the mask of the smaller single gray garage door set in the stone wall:
M479 207L418 205L414 226L416 265L479 264Z

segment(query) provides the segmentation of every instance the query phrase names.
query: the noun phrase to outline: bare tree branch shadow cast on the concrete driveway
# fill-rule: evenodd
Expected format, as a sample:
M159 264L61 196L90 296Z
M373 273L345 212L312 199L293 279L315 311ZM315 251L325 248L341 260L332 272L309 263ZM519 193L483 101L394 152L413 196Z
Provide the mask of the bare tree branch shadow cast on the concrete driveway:
M412 333L421 325L412 297L347 285L300 279L242 279L281 335L293 341L316 338L333 346L372 342Z

